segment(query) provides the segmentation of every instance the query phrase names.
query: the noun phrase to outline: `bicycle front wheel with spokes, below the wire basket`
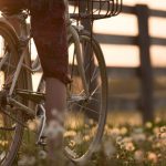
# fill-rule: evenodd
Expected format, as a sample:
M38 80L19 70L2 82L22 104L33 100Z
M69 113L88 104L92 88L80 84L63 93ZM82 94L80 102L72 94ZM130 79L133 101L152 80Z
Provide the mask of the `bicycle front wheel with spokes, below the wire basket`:
M102 50L87 33L80 34L81 55L85 71L85 93L76 61L73 38L69 41L70 74L68 86L68 116L65 118L64 149L73 162L84 164L97 149L105 125L107 107L107 77Z

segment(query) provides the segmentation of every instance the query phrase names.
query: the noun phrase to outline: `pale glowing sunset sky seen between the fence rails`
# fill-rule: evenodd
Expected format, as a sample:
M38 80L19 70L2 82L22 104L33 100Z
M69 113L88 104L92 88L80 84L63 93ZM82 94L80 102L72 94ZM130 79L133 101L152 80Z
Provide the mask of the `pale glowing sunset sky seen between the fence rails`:
M151 9L166 10L165 0L124 0L124 4L147 4ZM94 31L105 34L137 35L135 15L121 13L117 17L100 20L94 23ZM166 38L166 19L149 18L149 34ZM139 65L138 48L129 45L103 45L107 65L137 66ZM151 46L152 63L166 65L166 46Z

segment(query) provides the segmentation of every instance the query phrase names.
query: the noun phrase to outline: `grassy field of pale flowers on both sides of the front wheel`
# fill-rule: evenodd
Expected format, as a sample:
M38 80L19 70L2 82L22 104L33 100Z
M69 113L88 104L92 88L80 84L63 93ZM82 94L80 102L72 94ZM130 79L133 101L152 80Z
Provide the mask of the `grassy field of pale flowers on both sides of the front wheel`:
M121 118L125 118L122 117ZM135 121L108 121L105 125L102 144L86 166L165 166L166 165L166 125L156 117L142 124ZM135 123L134 123L135 122ZM29 143L15 160L19 166L46 166L46 153L34 146L34 139ZM55 164L56 166L56 164ZM70 166L62 165L62 166Z

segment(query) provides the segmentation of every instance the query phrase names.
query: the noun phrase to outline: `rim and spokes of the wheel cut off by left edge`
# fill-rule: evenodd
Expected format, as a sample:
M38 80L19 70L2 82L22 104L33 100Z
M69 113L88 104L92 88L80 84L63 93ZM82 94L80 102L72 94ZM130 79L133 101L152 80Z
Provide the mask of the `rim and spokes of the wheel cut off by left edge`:
M11 38L0 30L0 163L2 165L13 160L22 135L22 127L15 121L22 122L21 114L6 102L17 62L17 50Z

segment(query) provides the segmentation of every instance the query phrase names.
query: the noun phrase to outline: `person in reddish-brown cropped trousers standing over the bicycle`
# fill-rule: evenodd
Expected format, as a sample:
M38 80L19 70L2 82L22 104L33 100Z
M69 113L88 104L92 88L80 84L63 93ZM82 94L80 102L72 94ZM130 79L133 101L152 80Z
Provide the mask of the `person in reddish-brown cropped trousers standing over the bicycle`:
M31 13L32 37L41 60L45 79L46 124L56 118L66 106L68 45L65 27L65 6L63 0L0 0L0 9L11 11L29 9ZM63 120L63 118L62 118ZM63 125L63 122L61 123ZM59 139L59 141L58 141ZM61 146L60 137L49 141L49 156ZM55 144L55 145L54 145ZM54 145L54 146L52 146Z

